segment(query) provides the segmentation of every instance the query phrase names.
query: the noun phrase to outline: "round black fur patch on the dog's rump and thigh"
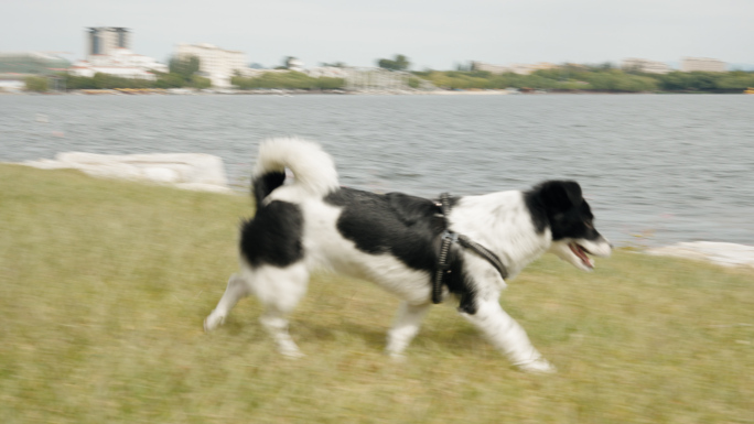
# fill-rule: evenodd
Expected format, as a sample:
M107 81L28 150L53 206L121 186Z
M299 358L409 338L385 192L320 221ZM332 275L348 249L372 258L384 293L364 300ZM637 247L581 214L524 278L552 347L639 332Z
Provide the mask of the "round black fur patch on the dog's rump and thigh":
M240 236L240 251L254 267L283 268L303 259L303 213L299 205L272 200L257 207L255 217L243 224Z

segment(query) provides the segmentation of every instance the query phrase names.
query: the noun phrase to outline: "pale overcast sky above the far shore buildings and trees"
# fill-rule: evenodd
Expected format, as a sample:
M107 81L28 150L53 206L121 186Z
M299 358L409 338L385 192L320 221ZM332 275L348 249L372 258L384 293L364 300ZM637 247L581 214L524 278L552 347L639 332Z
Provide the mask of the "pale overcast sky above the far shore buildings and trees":
M754 0L0 0L0 52L85 55L85 26L126 26L136 53L165 62L180 42L239 50L271 67L412 69L459 63L620 62L683 56L754 64Z

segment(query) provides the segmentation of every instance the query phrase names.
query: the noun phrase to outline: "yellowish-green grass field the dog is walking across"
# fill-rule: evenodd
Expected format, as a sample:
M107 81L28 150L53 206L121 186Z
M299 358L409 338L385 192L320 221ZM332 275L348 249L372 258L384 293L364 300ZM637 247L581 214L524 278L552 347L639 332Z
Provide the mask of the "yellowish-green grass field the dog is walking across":
M405 362L397 300L315 276L279 357L243 301L244 196L0 165L1 423L754 423L754 273L617 251L530 265L504 307L560 370L511 369L451 304ZM599 211L597 211L599 216Z

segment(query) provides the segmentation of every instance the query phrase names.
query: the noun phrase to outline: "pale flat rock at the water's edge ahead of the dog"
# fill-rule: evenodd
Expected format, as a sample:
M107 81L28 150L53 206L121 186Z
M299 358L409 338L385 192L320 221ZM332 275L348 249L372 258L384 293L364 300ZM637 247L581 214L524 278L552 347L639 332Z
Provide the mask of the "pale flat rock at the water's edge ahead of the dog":
M724 267L754 268L754 246L717 241L691 241L653 248L648 254L697 259Z

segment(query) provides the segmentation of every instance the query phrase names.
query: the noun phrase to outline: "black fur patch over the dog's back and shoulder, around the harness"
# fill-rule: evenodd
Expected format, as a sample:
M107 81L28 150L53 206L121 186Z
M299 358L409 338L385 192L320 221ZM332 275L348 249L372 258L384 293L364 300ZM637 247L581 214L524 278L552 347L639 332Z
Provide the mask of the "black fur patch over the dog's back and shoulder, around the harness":
M402 193L380 195L353 188L333 192L325 202L343 207L337 230L358 250L370 254L392 254L407 267L427 271L430 279L434 278L440 235L446 225L434 202ZM456 202L452 200L453 204ZM460 308L474 314L473 285L464 275L459 249L454 246L449 253L451 268L444 283L460 298ZM431 281L428 280L428 296L431 290Z

